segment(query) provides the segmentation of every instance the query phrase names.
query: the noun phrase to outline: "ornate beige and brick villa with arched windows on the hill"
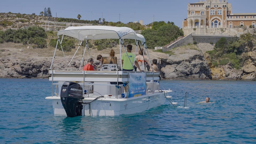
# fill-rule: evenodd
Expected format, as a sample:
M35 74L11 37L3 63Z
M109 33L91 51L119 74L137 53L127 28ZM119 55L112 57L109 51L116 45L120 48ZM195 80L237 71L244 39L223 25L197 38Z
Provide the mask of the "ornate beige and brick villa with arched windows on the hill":
M255 22L256 13L234 14L231 3L228 3L227 0L205 0L188 3L187 18L182 23L182 29L184 34L195 31L197 34L210 34L207 29L254 28ZM232 30L229 29L229 31Z

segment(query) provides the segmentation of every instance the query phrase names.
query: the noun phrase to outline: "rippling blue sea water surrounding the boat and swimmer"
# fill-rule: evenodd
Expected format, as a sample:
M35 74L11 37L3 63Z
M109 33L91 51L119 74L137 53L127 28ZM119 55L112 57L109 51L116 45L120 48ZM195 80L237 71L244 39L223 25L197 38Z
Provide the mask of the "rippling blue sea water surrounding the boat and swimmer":
M53 115L48 79L0 87L0 143L256 143L256 81L162 80L181 107L74 118ZM198 103L207 96L213 103Z

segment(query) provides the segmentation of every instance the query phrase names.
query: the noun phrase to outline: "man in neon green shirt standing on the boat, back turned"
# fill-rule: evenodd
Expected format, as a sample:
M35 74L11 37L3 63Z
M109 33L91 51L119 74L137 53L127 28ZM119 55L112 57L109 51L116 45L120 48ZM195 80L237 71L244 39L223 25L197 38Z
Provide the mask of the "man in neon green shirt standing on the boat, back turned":
M133 62L134 62L134 65L137 67L137 69L139 69L139 71L141 71L141 68L139 67L137 60L135 59L135 61L134 61L135 55L133 53L131 53L132 49L133 49L132 45L127 45L127 54L128 55L126 53L123 53L123 55L122 55L123 71L133 71Z

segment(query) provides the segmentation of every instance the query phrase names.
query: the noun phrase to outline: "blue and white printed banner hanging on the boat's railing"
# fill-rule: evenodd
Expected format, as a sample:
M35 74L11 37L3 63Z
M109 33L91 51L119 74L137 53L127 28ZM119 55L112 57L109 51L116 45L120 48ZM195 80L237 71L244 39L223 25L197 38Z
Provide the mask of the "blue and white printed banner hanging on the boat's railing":
M129 73L129 95L138 97L146 94L146 73Z

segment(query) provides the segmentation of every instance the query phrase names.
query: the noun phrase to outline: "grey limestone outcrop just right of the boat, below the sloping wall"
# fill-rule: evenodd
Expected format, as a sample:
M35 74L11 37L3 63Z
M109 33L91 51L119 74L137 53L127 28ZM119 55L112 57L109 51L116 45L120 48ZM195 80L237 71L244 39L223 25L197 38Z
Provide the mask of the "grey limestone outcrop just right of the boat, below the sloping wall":
M166 79L212 79L200 50L177 48L175 55L161 59L161 76Z

